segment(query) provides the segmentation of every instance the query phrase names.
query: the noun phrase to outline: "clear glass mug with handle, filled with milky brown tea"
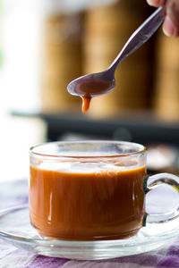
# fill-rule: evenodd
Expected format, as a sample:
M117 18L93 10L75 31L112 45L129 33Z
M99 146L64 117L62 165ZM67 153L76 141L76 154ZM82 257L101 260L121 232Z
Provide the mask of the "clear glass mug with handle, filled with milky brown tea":
M177 202L165 212L146 211L151 189L169 184L179 191L179 178L173 174L148 177L146 158L145 147L124 141L31 147L31 224L45 238L107 240L131 238L146 221L174 219Z

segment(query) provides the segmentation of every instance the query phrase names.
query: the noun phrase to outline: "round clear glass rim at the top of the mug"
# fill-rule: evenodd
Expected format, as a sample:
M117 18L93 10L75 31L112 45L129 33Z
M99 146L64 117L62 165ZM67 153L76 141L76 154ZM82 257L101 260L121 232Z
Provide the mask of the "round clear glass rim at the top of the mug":
M126 153L126 154L119 154L119 155L51 155L51 154L42 154L38 152L34 152L33 150L38 148L38 147L43 147L46 145L67 145L67 144L77 144L77 143L97 143L97 144L124 144L128 146L132 146L133 148L136 148L136 152L132 153ZM30 147L29 154L30 155L37 155L37 156L42 156L42 157L56 157L56 158L73 158L73 159L79 159L79 158L111 158L111 157L124 157L124 156L130 156L130 155L141 155L147 151L147 148L144 147L143 145L135 142L129 142L129 141L123 141L123 140L72 140L72 141L51 141L51 142L45 142L38 144L36 146Z

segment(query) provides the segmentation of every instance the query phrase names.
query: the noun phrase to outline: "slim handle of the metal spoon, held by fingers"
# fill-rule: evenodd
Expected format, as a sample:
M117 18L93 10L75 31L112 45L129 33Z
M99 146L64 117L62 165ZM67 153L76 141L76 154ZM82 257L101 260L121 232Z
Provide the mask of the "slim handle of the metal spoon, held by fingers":
M148 41L164 21L164 13L165 8L158 7L158 9L133 32L131 38L128 39L122 51L116 56L115 61L108 69L115 71L119 63Z

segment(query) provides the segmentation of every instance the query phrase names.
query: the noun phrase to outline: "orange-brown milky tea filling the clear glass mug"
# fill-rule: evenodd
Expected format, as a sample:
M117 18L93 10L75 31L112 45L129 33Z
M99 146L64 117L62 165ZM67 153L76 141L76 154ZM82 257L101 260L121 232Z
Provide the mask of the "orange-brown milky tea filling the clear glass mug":
M146 168L68 173L30 167L30 222L46 237L124 239L141 228Z

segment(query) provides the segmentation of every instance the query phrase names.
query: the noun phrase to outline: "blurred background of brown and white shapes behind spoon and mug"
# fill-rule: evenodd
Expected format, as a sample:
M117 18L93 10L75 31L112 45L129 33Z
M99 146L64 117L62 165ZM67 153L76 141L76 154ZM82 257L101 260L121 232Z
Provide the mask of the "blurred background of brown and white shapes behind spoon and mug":
M178 38L159 29L87 114L66 90L106 69L154 10L145 0L0 0L0 180L29 176L30 146L81 138L140 142L149 172L178 172Z

